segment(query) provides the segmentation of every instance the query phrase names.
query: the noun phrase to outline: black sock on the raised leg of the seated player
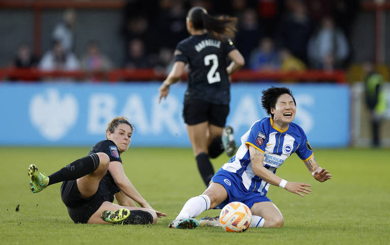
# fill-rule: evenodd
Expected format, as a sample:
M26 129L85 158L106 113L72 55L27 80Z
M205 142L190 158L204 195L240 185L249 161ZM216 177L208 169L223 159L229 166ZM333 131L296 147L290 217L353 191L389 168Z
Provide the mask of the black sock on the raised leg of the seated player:
M55 184L66 180L77 180L92 173L99 167L99 156L92 153L88 156L75 160L70 165L63 167L52 175L49 175L49 184Z

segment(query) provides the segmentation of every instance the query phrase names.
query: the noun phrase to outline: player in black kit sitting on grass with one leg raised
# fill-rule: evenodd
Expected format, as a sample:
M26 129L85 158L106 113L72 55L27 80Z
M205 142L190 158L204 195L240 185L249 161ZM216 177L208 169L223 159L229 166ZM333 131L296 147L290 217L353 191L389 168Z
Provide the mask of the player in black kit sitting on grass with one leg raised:
M61 198L75 223L155 224L155 211L126 177L120 155L127 150L133 125L116 117L106 130L107 140L96 143L88 155L46 176L34 164L28 168L30 189L37 193L62 182ZM113 203L114 196L119 205ZM142 208L137 208L134 201Z

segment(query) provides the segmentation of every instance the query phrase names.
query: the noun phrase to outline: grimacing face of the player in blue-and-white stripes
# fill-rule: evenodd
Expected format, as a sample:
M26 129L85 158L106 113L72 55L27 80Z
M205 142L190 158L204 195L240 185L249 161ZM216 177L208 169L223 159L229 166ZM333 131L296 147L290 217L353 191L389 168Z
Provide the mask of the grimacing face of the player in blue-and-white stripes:
M294 120L296 111L297 107L295 106L293 97L289 94L279 96L275 108L271 108L271 113L274 114L274 122L282 126Z

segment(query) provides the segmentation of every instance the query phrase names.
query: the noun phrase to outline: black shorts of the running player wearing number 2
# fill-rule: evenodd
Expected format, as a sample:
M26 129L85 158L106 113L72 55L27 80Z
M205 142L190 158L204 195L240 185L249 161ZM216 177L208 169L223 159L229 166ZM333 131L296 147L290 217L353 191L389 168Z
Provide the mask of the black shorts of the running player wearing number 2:
M187 125L196 125L204 121L209 121L212 125L225 127L229 109L229 104L218 105L204 100L192 99L184 103L184 122Z

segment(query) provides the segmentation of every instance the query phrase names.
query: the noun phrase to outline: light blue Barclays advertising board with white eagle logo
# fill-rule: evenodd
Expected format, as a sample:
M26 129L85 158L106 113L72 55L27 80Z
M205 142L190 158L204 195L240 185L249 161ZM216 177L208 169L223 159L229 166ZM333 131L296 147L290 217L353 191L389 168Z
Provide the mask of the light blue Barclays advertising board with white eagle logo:
M135 125L133 146L190 147L182 118L186 84L171 86L158 104L160 83L0 84L0 145L91 146L105 139L108 122L123 115ZM285 85L294 93L294 122L313 147L349 144L346 85ZM262 90L269 84L232 85L228 124L236 142L266 116Z

